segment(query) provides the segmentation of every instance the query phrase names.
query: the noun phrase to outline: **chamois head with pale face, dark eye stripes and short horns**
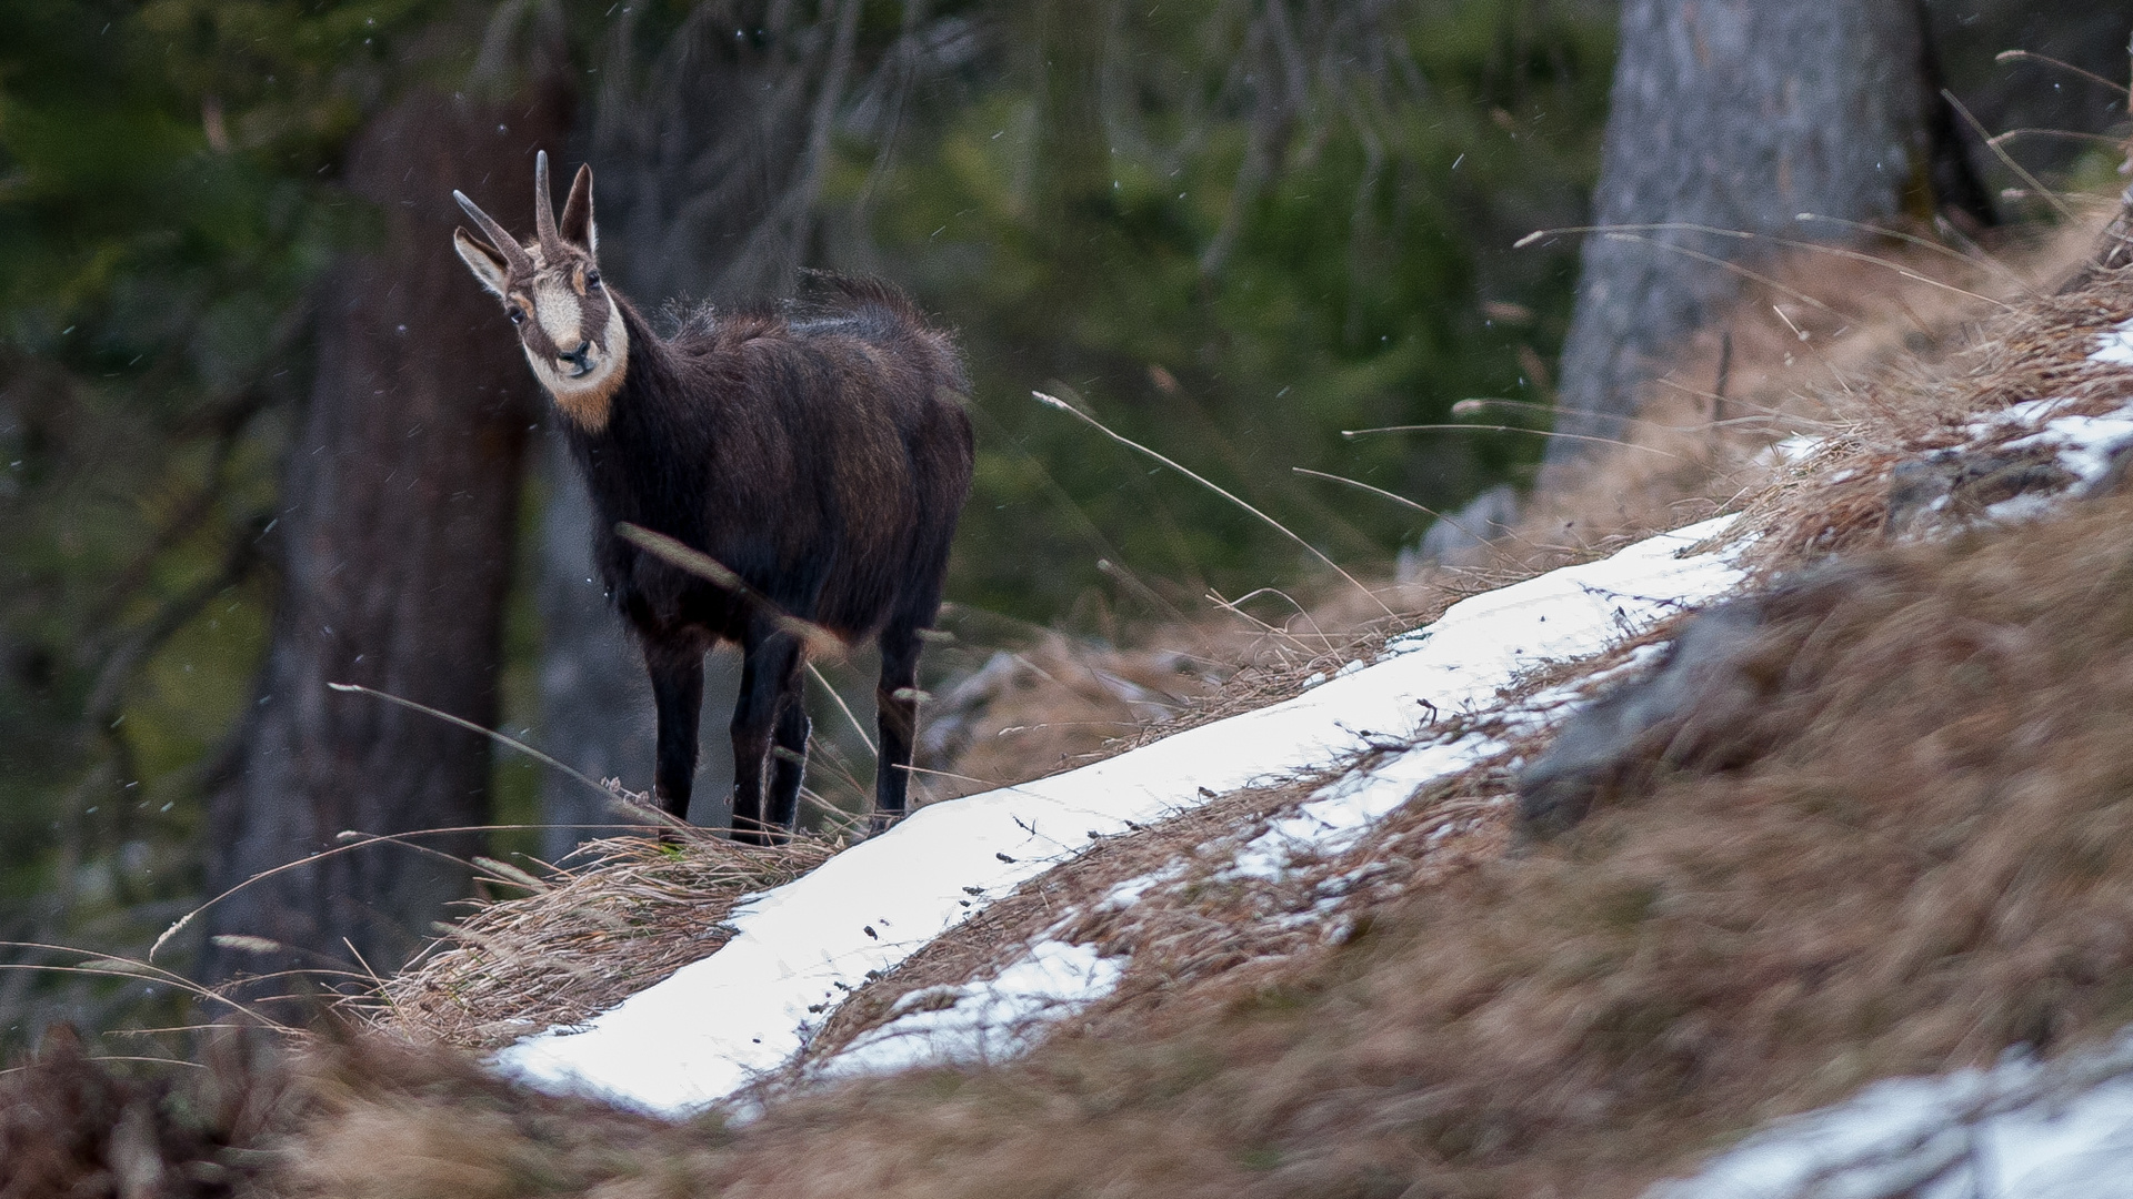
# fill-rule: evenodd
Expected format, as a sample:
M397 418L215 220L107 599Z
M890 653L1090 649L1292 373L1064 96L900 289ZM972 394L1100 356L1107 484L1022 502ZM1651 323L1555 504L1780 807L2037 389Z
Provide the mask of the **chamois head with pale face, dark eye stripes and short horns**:
M608 403L623 386L629 333L623 309L599 284L599 233L593 228L593 169L578 166L557 224L548 207L548 151L533 160L533 243L520 245L488 213L452 192L488 241L452 230L459 258L482 288L503 301L518 326L533 378L555 405L589 431L608 425Z

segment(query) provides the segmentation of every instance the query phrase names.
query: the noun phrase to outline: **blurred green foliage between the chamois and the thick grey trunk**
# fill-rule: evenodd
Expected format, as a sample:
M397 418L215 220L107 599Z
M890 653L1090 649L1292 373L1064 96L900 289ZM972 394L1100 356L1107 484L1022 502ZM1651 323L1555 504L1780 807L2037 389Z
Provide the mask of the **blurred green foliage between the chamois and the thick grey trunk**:
M1534 435L1342 431L1446 422L1465 397L1549 399L1531 363L1555 356L1574 256L1510 243L1583 211L1610 15L1382 9L1354 45L1327 34L1348 60L1305 62L1269 117L1248 83L1256 6L1032 4L990 26L1028 49L945 87L887 171L879 139L851 147L836 196L866 198L885 269L973 361L981 461L951 597L1035 621L1109 597L1150 614L1098 559L1180 606L1209 585L1325 578L1032 388L1357 570L1382 572L1427 516L1290 467L1446 508L1538 461ZM1256 181L1254 139L1271 143Z

